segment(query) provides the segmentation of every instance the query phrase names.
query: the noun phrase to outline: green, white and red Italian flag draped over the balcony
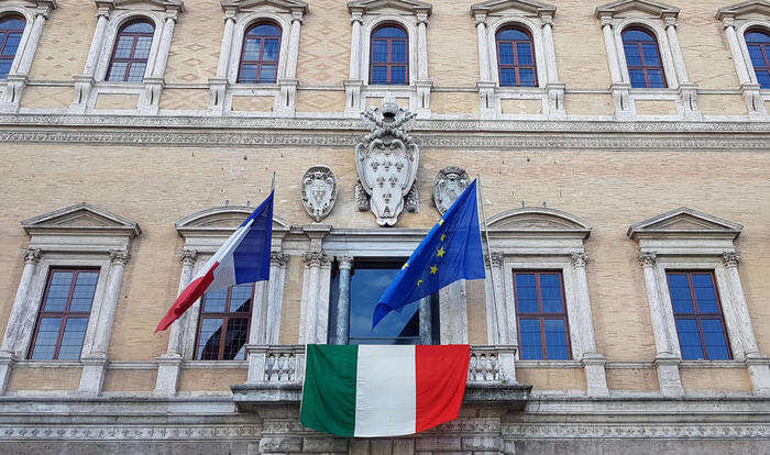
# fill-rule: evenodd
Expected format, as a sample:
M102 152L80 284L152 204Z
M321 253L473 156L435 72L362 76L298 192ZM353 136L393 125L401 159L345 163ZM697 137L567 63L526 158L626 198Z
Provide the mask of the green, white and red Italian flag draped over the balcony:
M300 421L346 437L419 433L458 418L469 345L309 344Z

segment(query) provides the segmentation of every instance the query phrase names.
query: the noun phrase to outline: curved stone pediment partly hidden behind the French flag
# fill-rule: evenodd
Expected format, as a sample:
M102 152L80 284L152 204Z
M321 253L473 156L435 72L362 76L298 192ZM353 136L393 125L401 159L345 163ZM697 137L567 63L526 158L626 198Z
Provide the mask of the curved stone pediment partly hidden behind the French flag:
M175 223L179 235L227 234L238 229L252 212L253 207L226 206L202 210L183 218ZM288 231L289 224L280 217L273 215L273 231Z

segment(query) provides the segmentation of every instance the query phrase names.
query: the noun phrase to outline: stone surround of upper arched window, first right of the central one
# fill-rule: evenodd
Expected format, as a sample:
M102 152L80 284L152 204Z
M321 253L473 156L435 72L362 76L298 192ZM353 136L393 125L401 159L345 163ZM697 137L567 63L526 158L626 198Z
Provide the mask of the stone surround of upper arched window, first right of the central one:
M532 0L491 0L471 5L479 44L480 115L482 119L565 119L564 84L553 44L553 18L557 7ZM496 36L508 26L525 29L532 37L537 87L501 87L497 71ZM541 100L539 114L503 113L503 100Z

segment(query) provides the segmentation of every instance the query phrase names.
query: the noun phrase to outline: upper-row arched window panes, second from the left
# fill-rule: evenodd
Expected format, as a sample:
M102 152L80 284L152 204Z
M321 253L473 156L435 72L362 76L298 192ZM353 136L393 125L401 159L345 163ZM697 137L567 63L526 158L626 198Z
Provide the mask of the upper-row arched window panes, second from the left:
M118 32L112 58L107 69L107 80L112 82L141 82L147 69L147 57L153 44L155 26L146 20L129 22Z

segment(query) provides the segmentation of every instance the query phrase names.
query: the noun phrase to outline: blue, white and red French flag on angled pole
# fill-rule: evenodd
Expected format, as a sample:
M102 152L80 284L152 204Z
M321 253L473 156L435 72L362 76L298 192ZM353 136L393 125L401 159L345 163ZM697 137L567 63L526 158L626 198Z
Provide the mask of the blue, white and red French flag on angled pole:
M241 224L176 298L155 333L168 329L206 291L270 279L273 191Z

